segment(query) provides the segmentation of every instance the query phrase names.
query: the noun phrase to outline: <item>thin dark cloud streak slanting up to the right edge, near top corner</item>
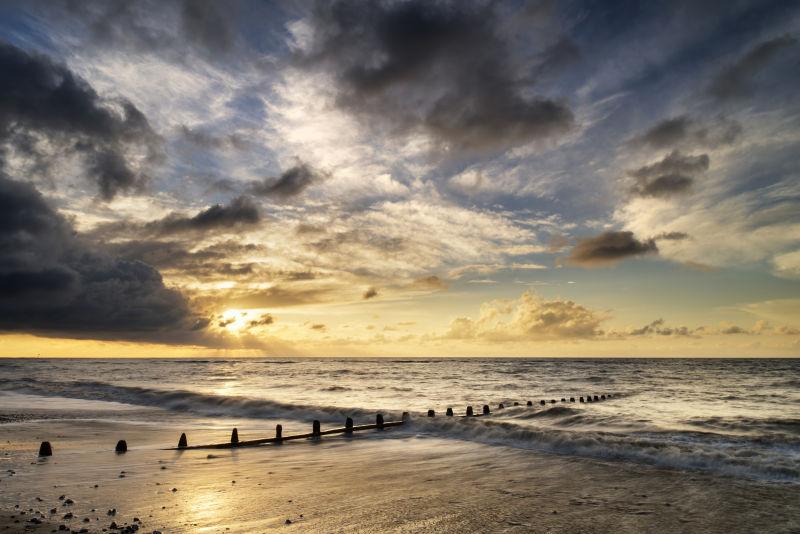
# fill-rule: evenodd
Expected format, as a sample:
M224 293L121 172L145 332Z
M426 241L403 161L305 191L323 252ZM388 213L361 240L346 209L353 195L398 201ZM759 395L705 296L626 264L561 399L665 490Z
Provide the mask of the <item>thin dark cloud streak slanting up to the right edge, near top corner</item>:
M725 101L750 96L753 79L783 49L797 44L797 39L784 35L764 41L751 48L738 61L724 68L711 81L708 93Z

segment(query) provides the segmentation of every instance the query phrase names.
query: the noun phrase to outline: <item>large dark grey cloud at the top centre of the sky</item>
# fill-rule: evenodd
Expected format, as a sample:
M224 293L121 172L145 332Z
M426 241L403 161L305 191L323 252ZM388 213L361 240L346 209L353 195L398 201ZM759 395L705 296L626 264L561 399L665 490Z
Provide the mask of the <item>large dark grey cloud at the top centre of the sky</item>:
M422 129L442 148L504 150L566 132L572 112L529 94L531 71L496 11L477 2L318 2L299 64L330 72L344 108L399 133ZM557 43L540 66L572 61L573 47Z

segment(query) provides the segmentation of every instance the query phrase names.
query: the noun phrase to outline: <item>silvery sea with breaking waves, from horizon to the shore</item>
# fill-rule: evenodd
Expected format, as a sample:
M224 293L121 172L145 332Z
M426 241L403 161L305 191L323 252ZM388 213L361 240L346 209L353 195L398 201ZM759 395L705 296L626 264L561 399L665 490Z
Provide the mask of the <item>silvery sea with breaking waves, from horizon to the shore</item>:
M444 415L484 404L491 417ZM420 435L800 483L800 360L0 360L0 433L42 418L340 425L379 411L412 412L404 432Z

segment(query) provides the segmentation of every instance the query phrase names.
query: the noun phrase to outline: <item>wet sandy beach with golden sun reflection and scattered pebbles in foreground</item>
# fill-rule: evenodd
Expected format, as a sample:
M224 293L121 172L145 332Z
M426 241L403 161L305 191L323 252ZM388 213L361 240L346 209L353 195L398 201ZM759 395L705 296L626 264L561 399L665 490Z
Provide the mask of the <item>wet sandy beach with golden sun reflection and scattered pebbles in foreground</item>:
M241 438L271 435L274 424L262 424L247 436L240 428ZM394 430L256 449L161 450L180 431L195 444L229 434L98 421L0 426L0 531L102 532L112 521L139 532L800 531L800 487L792 484ZM45 437L54 456L37 459ZM120 438L126 454L113 452ZM30 523L34 516L44 523Z

